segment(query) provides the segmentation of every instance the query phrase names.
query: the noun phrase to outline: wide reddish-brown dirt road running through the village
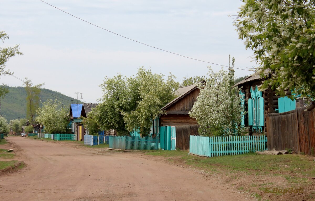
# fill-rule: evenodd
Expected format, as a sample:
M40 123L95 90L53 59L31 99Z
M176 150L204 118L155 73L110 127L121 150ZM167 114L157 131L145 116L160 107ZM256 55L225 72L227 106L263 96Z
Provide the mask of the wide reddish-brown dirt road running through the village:
M7 139L19 146L16 159L27 166L0 176L0 200L246 199L217 178L139 154L95 154L69 143Z

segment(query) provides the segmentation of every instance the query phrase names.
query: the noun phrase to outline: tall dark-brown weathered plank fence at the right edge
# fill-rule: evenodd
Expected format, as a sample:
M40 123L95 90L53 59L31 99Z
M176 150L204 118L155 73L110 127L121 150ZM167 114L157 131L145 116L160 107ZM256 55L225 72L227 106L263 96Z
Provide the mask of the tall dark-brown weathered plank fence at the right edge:
M266 114L268 150L292 149L296 153L315 155L315 112L295 110Z

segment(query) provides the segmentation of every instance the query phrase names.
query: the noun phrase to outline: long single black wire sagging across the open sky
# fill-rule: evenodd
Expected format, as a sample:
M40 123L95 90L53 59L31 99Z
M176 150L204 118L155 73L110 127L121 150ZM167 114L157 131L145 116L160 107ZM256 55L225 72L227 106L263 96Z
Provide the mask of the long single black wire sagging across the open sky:
M203 61L203 60L200 60L200 59L194 59L194 58L192 58L192 57L187 57L187 56L184 56L184 55L181 55L181 54L178 54L178 53L170 52L170 51L167 51L167 50L158 48L158 47L154 47L154 46L148 45L148 44L143 43L143 42L136 41L136 40L131 39L131 38L128 38L128 37L126 37L126 36L117 34L117 33L113 32L113 31L109 31L109 30L107 30L107 29L105 29L105 28L102 28L102 27L100 27L100 26L98 26L98 25L95 25L95 24L93 24L93 23L91 23L91 22L89 22L89 21L83 20L83 19L81 19L81 18L79 18L79 17L77 17L77 16L74 16L74 15L72 15L72 14L70 14L70 13L68 13L68 12L66 12L66 11L64 11L64 10L62 10L62 9L60 9L60 8L57 8L57 7L51 5L51 4L47 3L47 2L44 2L43 0L39 0L39 1L41 1L41 2L43 2L43 3L46 3L47 5L49 5L49 6L51 6L51 7L54 7L54 8L56 8L56 9L58 9L58 10L64 12L64 13L68 14L68 15L71 15L72 17L75 17L75 18L77 18L77 19L79 19L79 20L82 20L83 22L86 22L86 23L88 23L88 24L90 24L90 25L96 26L96 27L98 27L98 28L100 28L100 29L103 29L103 30L105 30L105 31L108 31L108 32L110 32L110 33L113 33L113 34L115 34L115 35L117 35L117 36L121 36L121 37L126 38L126 39L128 39L128 40L131 40L131 41L140 43L140 44L142 44L142 45L146 45L146 46L148 46L148 47L152 47L152 48L155 48L155 49L158 49L158 50L167 52L167 53L176 54L176 55L178 55L178 56L185 57L185 58L188 58L188 59L193 59L193 60L196 60L196 61L201 61L201 62L205 62L205 63L208 63L208 64L214 64L214 65L218 65L218 66L229 67L229 66L226 66L226 65L215 64L215 63L208 62L208 61ZM234 68L235 68L235 67L234 67ZM242 69L242 68L235 68L235 69L248 70L248 69ZM248 71L253 71L253 70L248 70Z

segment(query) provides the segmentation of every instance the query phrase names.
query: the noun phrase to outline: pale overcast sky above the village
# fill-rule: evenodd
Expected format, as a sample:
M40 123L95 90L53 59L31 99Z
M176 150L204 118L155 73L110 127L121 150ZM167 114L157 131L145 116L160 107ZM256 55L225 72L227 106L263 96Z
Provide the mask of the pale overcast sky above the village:
M252 51L245 50L232 25L242 1L238 0L46 0L107 30L167 51L195 59L251 68ZM20 44L7 69L19 78L75 97L97 102L104 77L134 75L140 66L153 72L169 72L181 81L185 76L205 75L207 66L221 67L166 53L127 40L53 8L40 0L0 1L0 31L10 40L1 47ZM226 69L226 68L225 68ZM251 74L236 70L236 76ZM22 86L12 76L2 76L9 86Z

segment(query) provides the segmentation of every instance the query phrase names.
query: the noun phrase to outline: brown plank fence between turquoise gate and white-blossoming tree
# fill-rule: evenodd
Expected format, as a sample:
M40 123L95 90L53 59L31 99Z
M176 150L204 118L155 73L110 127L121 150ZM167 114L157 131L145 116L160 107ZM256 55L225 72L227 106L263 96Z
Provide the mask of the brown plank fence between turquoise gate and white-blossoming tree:
M180 150L189 149L191 135L197 136L199 125L176 126L176 148Z

